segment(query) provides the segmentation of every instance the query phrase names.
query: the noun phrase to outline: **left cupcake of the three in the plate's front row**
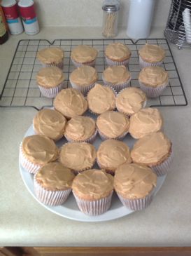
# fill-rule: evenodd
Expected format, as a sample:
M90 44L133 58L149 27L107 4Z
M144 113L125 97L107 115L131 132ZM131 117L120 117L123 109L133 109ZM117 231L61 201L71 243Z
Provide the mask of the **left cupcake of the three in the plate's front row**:
M47 163L34 175L34 193L41 203L60 206L71 192L75 175L62 163Z

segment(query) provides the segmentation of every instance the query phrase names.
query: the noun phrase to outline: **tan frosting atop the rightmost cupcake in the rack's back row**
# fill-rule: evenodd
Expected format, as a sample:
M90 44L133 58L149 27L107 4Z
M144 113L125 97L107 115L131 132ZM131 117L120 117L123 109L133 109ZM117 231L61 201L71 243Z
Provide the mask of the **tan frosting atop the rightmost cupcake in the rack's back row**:
M161 62L165 58L165 50L155 44L146 44L139 50L139 55L146 62Z

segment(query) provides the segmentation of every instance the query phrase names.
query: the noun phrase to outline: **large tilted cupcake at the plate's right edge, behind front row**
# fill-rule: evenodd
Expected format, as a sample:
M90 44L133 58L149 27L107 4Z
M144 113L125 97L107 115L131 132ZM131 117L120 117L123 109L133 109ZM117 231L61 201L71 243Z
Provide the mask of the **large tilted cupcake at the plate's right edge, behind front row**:
M157 176L169 172L172 161L172 144L162 132L151 133L135 142L132 161L152 168Z

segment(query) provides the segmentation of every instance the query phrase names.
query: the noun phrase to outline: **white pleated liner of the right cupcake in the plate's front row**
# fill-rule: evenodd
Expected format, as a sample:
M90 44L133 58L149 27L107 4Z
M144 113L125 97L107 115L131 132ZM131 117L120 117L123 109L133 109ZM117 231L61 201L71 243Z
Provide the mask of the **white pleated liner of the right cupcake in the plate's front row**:
M122 204L125 207L129 208L130 210L143 210L146 207L148 207L150 203L153 201L153 193L150 193L145 198L139 198L139 199L127 199L120 196L120 194L118 194L118 197L120 198L120 201L122 202Z

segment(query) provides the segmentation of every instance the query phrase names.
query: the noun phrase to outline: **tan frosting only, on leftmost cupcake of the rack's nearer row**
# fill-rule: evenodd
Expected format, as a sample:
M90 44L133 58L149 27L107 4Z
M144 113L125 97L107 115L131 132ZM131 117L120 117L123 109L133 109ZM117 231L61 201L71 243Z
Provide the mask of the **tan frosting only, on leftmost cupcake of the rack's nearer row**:
M36 76L39 86L51 88L58 86L64 81L64 74L59 67L43 67Z

